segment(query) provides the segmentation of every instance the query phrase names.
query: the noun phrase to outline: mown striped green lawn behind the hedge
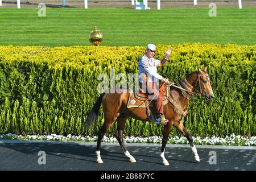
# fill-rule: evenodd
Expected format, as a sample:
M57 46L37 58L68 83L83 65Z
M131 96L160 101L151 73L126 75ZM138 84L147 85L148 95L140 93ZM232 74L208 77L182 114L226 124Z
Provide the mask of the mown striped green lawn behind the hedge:
M256 44L256 7L134 10L134 9L0 8L0 44L36 46L90 45L97 26L102 46L145 46L184 42Z

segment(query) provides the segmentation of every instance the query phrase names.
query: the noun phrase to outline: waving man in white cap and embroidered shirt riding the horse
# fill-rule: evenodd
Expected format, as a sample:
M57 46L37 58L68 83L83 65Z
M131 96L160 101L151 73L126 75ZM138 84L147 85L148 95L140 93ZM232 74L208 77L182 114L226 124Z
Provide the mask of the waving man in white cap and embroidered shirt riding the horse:
M168 57L171 53L171 47L168 47L166 51L166 56L162 60L155 59L156 47L154 44L148 44L146 47L146 52L143 54L141 59L139 59L139 82L140 86L148 95L148 99L152 100L155 108L155 121L157 124L166 125L168 120L164 117L163 112L163 97L159 94L158 80L162 80L166 84L171 84L167 78L159 75L157 72L158 66L163 66L166 64Z

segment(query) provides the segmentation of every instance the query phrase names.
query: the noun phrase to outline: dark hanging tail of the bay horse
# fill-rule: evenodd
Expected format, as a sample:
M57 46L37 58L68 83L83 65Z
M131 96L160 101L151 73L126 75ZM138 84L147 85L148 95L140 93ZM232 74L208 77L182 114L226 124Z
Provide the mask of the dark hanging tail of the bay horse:
M88 130L90 126L93 125L98 119L98 113L100 112L102 97L105 93L102 93L100 97L98 97L96 103L94 104L92 110L90 110L90 113L88 114L86 121L84 123L85 130Z

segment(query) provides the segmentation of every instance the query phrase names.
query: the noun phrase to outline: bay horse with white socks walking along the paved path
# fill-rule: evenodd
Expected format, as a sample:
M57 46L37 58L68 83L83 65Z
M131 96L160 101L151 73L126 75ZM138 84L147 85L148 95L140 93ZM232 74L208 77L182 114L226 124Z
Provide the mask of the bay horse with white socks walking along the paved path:
M205 96L207 100L212 100L212 98L214 97L212 86L210 85L209 76L207 74L207 67L205 67L204 70L198 68L198 71L189 74L188 76L180 80L177 85L179 85L180 88L183 88L183 90L171 86L170 97L176 102L177 105L180 106L180 108L182 108L182 110L185 110L185 106L188 104L189 98L191 98L193 94ZM188 92L186 93L184 89ZM101 140L106 132L109 130L110 126L113 125L114 121L117 121L117 133L115 134L115 137L117 138L118 143L122 148L122 151L130 159L130 162L136 162L134 157L127 150L122 140L126 119L127 117L132 117L141 121L150 120L146 115L146 108L127 108L128 99L129 93L102 93L101 96L98 97L96 103L94 104L92 110L86 118L86 121L84 123L85 130L97 121L100 106L102 103L104 111L104 124L98 132L96 148L97 163L103 163L100 156ZM162 148L160 154L164 166L169 165L168 161L164 157L164 151L166 148L168 135L172 126L175 126L176 129L179 130L188 139L192 152L195 155L194 159L197 162L200 162L200 158L197 154L197 150L195 144L193 143L192 136L185 129L183 123L180 122L181 118L184 118L184 115L177 113L177 111L175 111L174 109L173 104L171 104L170 101L166 105L164 105L164 113L166 119L168 119L169 121L167 125L164 125L163 127Z

